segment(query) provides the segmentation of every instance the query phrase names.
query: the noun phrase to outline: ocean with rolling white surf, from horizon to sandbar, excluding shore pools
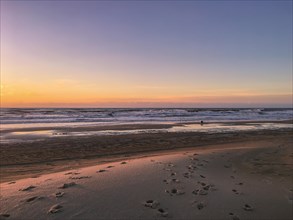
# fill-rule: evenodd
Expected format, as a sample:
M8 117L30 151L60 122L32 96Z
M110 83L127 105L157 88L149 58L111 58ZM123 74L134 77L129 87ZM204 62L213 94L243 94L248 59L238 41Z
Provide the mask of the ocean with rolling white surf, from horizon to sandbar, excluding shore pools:
M1 127L293 119L291 108L2 108Z

